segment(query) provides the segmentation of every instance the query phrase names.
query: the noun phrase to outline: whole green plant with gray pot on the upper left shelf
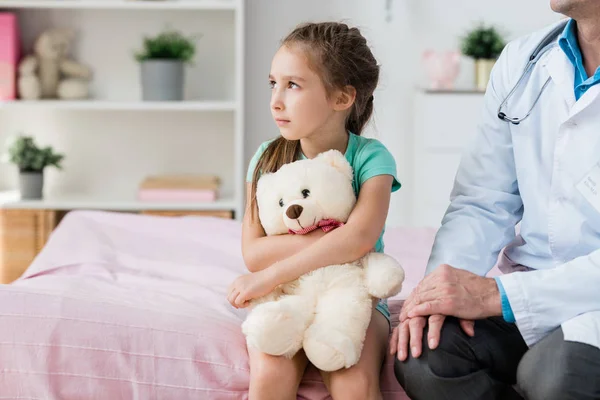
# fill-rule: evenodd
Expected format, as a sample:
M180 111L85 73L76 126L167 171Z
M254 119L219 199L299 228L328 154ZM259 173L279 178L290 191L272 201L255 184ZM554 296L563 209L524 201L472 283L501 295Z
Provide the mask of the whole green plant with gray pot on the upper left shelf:
M141 65L142 99L183 100L184 67L191 64L195 53L194 38L175 30L145 37L142 50L135 54Z

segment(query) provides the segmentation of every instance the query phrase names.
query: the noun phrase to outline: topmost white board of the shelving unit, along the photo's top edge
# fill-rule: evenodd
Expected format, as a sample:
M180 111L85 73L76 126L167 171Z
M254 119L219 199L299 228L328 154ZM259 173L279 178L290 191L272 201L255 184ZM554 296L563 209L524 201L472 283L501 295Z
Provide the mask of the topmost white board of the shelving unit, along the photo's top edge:
M234 0L0 0L2 8L234 10Z

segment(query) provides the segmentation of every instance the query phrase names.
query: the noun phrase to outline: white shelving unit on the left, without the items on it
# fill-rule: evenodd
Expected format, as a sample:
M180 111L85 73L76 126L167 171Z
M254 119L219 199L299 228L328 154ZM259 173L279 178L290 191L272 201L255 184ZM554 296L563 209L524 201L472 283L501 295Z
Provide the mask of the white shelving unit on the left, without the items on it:
M0 0L2 11L17 14L24 54L45 29L74 29L72 56L94 77L89 100L0 103L0 146L27 133L66 155L63 171L46 171L40 201L19 200L16 169L0 165L0 207L230 210L241 218L244 0ZM166 27L201 35L185 101L144 102L133 52ZM139 182L160 173L219 175L220 199L137 201Z

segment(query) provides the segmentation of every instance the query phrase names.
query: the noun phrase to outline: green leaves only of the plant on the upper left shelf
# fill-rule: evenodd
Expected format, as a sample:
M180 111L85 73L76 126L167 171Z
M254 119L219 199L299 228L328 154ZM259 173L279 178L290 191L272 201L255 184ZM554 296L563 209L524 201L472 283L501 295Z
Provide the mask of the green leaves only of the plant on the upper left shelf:
M191 63L196 54L195 39L175 30L165 30L154 37L145 37L143 48L135 53L135 58L137 61L179 60Z

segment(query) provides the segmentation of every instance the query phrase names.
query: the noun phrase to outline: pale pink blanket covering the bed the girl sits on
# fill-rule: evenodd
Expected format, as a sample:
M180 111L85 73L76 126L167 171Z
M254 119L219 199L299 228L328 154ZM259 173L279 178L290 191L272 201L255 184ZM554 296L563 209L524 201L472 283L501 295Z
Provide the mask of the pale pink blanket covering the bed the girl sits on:
M0 286L2 398L246 399L245 310L225 298L245 272L235 221L68 214L24 276ZM388 230L407 271L397 313L422 277L433 231ZM406 398L388 357L386 399ZM309 369L299 398L329 398Z

